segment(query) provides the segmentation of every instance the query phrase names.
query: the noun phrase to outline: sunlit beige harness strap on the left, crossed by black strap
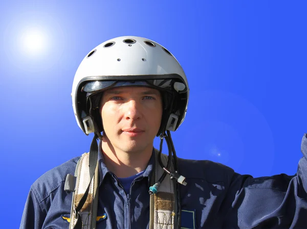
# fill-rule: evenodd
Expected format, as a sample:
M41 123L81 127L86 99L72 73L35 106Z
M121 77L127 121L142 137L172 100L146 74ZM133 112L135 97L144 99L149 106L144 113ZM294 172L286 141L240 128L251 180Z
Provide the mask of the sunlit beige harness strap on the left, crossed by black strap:
M75 207L78 206L80 199L87 189L87 185L90 182L90 171L89 171L89 153L84 153L79 159L75 176L77 177L75 192L73 193L72 209L71 209L71 220L69 229L73 229L77 221L77 214L74 211ZM90 191L87 195L86 201L79 211L82 218L82 229L95 229L96 228L96 217L98 207L98 186L99 186L99 166L96 166L95 174L91 182Z

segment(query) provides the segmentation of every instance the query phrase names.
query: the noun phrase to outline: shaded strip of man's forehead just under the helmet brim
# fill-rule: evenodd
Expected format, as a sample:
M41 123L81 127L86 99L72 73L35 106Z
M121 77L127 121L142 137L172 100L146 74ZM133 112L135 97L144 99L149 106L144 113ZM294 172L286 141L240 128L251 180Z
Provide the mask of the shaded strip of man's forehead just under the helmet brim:
M108 94L122 94L122 93L129 93L129 94L156 94L160 95L160 91L155 88L149 88L144 86L124 86L124 87L114 87L104 91L104 95Z

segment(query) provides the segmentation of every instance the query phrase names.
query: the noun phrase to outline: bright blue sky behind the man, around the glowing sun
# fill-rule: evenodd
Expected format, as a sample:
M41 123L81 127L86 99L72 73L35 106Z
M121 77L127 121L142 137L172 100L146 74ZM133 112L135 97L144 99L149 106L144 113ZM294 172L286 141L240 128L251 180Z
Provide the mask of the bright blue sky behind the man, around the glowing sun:
M92 48L118 36L154 40L183 66L190 99L186 120L172 133L179 157L253 176L295 174L307 133L306 5L1 2L3 228L18 228L41 174L89 151L92 136L78 128L72 109L74 74Z

